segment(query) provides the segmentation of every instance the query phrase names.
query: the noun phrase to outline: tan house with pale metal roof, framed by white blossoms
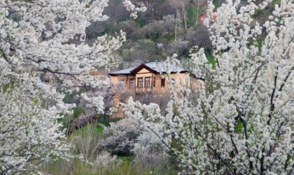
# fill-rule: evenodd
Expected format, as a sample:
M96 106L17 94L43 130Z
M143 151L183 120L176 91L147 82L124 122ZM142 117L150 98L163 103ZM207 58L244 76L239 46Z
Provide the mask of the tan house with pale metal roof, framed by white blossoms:
M187 73L187 70L179 66L171 65L167 68L164 62L148 62L137 67L109 73L113 85L120 84L123 86L122 93L117 94L113 99L114 104L118 107L118 113L115 113L113 117L123 117L119 102L127 102L130 96L135 100L144 101L140 99L146 99L148 98L147 96L156 94L155 97L159 97L156 99L162 100L163 97L168 95L169 91L168 80L165 75L169 74L170 78L176 80L176 85L187 85ZM190 85L197 87L195 76L190 77L192 77L190 78ZM159 103L155 101L155 98L153 98L153 101L153 103Z

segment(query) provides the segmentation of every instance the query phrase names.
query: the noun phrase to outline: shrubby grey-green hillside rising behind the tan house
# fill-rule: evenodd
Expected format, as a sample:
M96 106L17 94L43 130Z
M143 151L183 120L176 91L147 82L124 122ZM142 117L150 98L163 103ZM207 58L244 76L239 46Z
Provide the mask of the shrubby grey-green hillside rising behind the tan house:
M111 0L109 7L105 9L105 14L109 15L110 19L106 22L93 22L87 29L89 43L97 36L125 31L127 41L115 53L120 60L118 69L144 62L164 61L174 53L179 55L185 66L185 59L189 57L188 48L194 45L205 48L207 55L210 55L209 34L206 27L197 22L197 16L207 8L206 1L183 1L184 7L172 0L133 2L147 7L146 12L140 13L137 19L130 18L121 0ZM214 5L217 8L223 2L215 0ZM264 10L257 10L253 18L262 24L274 8L274 3L279 3L279 0L275 0ZM241 1L241 5L244 4L246 1Z

